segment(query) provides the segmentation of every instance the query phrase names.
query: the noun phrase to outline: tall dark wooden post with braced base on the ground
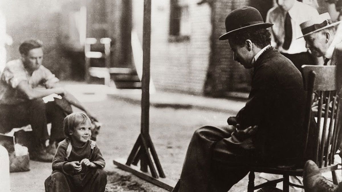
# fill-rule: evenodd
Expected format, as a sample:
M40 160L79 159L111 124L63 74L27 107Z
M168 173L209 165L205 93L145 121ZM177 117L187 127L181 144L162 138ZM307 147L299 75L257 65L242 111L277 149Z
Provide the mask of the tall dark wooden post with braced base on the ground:
M159 162L157 152L149 136L149 84L150 84L150 44L151 44L151 0L144 0L144 25L143 25L143 75L142 75L142 97L141 97L141 133L136 140L133 149L128 156L126 165L113 161L119 168L133 173L134 175L149 181L159 187L171 191L173 187L158 180L159 176L165 178L165 174ZM152 158L150 156L152 154ZM130 165L137 165L140 161L140 171ZM148 167L152 177L147 175Z

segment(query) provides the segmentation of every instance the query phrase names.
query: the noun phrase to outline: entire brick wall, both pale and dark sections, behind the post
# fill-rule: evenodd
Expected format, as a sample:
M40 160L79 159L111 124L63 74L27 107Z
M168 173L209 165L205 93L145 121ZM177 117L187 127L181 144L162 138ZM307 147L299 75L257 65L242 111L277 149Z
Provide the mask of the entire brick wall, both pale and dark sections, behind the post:
M181 2L184 3L185 0ZM198 5L187 0L189 40L169 42L170 1L152 1L151 77L158 90L225 96L248 92L251 70L233 61L225 33L226 15L245 5L259 9L265 18L273 0L212 0ZM133 0L133 28L142 39L143 4Z

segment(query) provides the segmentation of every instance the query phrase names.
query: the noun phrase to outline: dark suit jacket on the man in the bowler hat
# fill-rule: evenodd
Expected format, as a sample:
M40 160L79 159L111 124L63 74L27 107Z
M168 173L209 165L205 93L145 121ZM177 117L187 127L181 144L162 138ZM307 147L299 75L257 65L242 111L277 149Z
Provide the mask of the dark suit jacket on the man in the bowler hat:
M276 49L267 49L255 62L249 100L237 114L241 127L258 125L253 141L262 158L298 157L305 97L300 71Z

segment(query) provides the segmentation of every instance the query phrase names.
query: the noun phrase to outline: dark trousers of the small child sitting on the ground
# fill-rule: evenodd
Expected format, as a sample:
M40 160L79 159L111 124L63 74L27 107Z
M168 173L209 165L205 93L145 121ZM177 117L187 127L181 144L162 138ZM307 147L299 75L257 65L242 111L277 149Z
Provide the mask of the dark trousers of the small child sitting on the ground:
M104 169L89 168L78 175L66 175L54 170L45 182L46 192L103 192L106 189L107 173Z

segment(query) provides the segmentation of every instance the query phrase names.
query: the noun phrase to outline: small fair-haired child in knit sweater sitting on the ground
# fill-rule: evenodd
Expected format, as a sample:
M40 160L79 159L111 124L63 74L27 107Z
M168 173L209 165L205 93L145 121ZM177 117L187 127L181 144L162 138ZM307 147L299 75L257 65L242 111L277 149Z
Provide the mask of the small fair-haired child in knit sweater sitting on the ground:
M52 161L52 174L45 180L45 191L99 191L107 184L105 161L95 142L90 140L91 121L80 112L64 119L66 139L58 145Z

